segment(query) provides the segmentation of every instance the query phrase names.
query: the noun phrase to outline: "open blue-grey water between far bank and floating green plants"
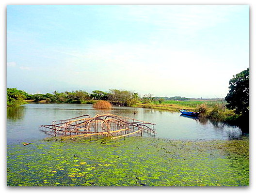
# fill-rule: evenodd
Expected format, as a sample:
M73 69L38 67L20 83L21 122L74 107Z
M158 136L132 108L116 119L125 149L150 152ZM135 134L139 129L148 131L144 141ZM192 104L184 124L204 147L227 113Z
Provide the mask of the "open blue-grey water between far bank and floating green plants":
M46 134L39 131L42 124L52 120L63 120L89 114L115 114L156 123L156 137L169 139L239 139L240 128L222 122L206 119L195 120L181 116L180 113L160 111L150 108L112 107L111 110L95 109L92 105L69 104L28 104L7 108L7 144L32 142L43 139ZM135 113L135 114L134 114Z

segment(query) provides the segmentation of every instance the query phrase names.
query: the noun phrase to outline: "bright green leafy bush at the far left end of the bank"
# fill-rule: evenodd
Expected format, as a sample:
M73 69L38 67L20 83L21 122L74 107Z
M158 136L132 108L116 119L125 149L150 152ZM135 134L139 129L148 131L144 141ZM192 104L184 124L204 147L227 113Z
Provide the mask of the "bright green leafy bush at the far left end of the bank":
M16 106L26 104L25 99L28 93L23 90L17 90L16 88L7 88L7 106Z

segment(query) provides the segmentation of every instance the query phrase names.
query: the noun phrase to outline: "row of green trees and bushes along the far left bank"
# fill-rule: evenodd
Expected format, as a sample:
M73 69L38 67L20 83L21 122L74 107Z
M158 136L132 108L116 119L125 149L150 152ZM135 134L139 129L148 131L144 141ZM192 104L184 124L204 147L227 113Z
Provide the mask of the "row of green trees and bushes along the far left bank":
M109 92L94 90L88 93L84 90L65 91L46 93L46 94L28 94L23 90L16 88L7 88L7 106L16 106L25 104L25 100L32 102L45 103L66 103L66 104L92 104L96 100L107 100L114 105L131 106L138 103L141 98L138 93L129 90L111 89Z

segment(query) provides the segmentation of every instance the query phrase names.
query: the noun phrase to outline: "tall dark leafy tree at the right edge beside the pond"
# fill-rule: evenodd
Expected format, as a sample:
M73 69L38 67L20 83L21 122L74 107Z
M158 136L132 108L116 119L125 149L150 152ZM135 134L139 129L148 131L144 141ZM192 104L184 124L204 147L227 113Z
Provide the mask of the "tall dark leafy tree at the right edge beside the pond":
M233 75L229 80L229 92L225 97L226 107L235 109L236 114L245 115L249 113L249 68Z

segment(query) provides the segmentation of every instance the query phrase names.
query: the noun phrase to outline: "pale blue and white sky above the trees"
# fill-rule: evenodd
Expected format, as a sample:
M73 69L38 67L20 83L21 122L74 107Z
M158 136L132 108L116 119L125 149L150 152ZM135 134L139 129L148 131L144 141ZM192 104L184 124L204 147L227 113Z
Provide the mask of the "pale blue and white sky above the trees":
M7 88L224 98L249 5L8 5Z

